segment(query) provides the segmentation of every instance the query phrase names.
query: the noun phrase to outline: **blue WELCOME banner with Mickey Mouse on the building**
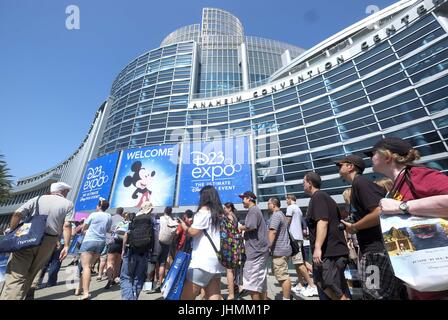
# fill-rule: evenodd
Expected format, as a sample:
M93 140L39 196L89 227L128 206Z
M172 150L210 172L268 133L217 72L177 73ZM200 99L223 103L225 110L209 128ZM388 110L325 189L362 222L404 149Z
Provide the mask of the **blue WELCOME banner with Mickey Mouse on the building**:
M152 146L125 150L115 179L112 207L172 206L179 146Z

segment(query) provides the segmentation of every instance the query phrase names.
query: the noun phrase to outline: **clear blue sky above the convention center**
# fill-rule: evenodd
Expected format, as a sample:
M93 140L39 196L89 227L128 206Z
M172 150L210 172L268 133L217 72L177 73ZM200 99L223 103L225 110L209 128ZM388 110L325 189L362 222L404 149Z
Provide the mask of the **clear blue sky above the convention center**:
M0 0L0 153L17 178L65 160L118 72L203 7L228 10L246 35L311 48L393 0ZM68 5L80 29L67 30Z

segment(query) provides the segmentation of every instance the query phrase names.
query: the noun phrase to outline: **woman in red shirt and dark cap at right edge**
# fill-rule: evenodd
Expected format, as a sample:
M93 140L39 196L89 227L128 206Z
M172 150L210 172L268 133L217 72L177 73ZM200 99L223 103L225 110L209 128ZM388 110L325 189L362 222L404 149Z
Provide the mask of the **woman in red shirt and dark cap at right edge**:
M373 171L393 180L390 198L380 201L383 214L412 214L448 218L448 176L418 166L419 152L407 141L385 138L366 152L372 157ZM432 300L448 297L448 291L418 292L410 290L411 299Z

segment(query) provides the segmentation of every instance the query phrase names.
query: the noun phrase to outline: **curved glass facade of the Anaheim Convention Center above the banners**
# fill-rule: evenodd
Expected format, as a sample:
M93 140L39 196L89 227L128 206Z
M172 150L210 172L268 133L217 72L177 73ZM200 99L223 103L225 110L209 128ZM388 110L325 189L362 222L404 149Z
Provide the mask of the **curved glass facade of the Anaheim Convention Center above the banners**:
M446 1L401 1L301 51L246 37L233 15L204 9L202 25L176 30L120 72L91 158L251 135L261 202L305 198L308 171L342 202L347 184L333 161L365 158L382 137L408 140L421 163L447 172L447 30Z

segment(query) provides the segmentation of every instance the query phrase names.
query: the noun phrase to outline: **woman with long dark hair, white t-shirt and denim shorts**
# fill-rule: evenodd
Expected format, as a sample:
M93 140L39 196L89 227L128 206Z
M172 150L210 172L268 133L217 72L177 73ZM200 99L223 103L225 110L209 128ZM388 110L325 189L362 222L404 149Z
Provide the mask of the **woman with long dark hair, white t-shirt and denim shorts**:
M188 227L180 220L187 236L193 238L191 262L182 292L182 300L194 300L201 289L209 300L221 300L221 274L225 268L219 263L215 249L220 248L219 220L225 215L219 194L213 186L199 192L198 211ZM210 239L206 236L210 237Z

